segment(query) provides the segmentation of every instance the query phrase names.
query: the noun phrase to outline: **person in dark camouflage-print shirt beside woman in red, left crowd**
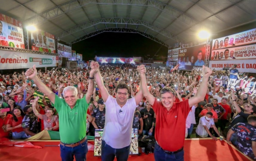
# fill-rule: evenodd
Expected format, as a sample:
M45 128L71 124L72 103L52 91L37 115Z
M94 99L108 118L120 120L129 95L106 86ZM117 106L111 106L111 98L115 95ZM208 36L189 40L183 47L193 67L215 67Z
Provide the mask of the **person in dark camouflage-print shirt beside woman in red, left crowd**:
M25 106L23 111L26 115L22 120L22 128L26 133L26 137L29 138L36 135L39 131L37 117L34 114L31 105Z

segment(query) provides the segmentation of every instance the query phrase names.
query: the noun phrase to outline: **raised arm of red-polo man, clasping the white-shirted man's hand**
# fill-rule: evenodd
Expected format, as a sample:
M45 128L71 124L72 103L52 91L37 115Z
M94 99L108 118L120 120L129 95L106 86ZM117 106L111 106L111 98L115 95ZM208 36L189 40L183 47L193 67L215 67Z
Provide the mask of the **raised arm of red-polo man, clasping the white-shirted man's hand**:
M141 89L143 92L144 97L148 100L148 102L153 106L154 102L155 102L155 97L153 95L151 95L148 91L148 86L147 86L147 80L146 80L146 68L144 65L140 65L137 67L137 71L140 74L140 82L141 82ZM140 89L140 90L141 90Z

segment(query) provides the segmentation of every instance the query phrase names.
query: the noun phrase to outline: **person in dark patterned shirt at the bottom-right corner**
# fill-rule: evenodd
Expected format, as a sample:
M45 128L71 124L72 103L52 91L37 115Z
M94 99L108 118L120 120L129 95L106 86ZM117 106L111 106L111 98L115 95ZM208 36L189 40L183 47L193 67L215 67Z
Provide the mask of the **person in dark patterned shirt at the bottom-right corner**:
M227 142L231 143L230 138L232 134L236 133L237 149L256 160L256 116L250 115L247 121L248 123L237 123L228 131Z

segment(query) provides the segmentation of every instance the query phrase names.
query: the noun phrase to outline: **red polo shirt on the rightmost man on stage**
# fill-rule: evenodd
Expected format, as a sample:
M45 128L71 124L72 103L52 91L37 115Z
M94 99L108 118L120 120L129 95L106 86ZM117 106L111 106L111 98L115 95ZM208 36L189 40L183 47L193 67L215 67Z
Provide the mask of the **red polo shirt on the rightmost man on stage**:
M170 111L155 99L152 106L156 113L155 137L161 148L168 151L181 149L185 141L186 119L190 111L188 99L174 102ZM169 114L168 114L169 113Z

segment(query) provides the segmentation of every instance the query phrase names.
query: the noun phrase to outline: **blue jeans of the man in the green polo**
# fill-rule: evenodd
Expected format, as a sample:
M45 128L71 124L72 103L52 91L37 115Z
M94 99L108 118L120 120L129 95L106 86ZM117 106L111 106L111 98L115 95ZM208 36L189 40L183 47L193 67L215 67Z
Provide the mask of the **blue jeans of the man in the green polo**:
M84 141L84 143L75 147L67 147L60 144L60 157L62 161L73 161L74 155L76 157L76 161L86 161L87 152L87 139Z

